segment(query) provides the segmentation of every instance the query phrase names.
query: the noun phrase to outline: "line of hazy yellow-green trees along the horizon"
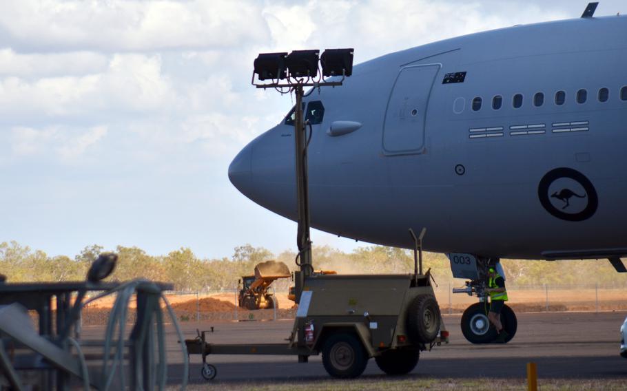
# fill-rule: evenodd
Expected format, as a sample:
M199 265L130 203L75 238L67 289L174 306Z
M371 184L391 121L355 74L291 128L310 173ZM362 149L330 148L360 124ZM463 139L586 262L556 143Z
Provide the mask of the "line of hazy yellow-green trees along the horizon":
M41 250L32 250L17 242L0 243L0 274L7 282L59 282L81 281L96 257L104 252L97 244L86 246L81 253L70 257L48 256ZM110 250L108 250L110 251ZM117 246L118 255L111 281L147 278L171 282L176 290L229 290L236 287L238 279L252 275L254 266L266 260L285 262L290 270L296 253L283 251L273 254L263 247L250 244L238 246L231 257L207 259L197 257L192 249L181 248L167 255L150 255L138 247ZM314 246L314 268L332 270L341 274L413 273L413 253L385 246L364 246L345 253L329 246ZM453 279L449 260L438 253L424 253L425 270L431 272L438 283L462 285L463 280ZM616 273L607 260L578 261L521 261L502 260L508 284L604 284L627 286L627 276ZM277 290L287 289L289 279L279 280Z

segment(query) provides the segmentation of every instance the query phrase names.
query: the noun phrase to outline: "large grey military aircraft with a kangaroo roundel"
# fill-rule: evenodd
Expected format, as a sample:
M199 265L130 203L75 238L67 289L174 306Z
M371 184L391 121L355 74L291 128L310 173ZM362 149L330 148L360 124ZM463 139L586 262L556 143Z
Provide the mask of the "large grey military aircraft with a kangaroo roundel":
M627 17L594 8L387 54L311 91L312 226L404 248L409 228L426 227L424 249L449 255L480 297L502 257L607 258L624 271ZM293 133L294 109L229 178L296 220ZM482 341L486 319L467 315L464 335Z

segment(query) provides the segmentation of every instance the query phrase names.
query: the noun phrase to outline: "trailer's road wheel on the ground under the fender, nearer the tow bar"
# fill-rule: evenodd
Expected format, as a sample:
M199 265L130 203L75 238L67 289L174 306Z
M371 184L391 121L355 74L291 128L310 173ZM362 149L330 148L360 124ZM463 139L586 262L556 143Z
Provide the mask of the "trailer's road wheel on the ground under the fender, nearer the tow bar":
M358 377L366 369L367 363L366 350L352 333L336 332L322 347L322 364L332 377Z

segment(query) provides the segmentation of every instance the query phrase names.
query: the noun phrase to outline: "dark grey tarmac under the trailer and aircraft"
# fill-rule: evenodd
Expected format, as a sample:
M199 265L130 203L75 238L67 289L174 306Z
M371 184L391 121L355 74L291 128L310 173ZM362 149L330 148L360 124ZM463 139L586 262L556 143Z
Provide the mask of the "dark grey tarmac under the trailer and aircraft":
M537 363L544 379L625 379L627 359L619 356L619 328L627 312L521 313L515 338L505 345L473 345L460 330L460 315L445 315L450 343L422 352L418 366L409 376L435 378L524 378L526 363ZM182 324L186 338L196 328L215 332L209 342L223 344L284 342L293 321L201 322ZM85 330L90 334L94 330ZM95 335L94 335L95 337ZM174 330L168 335L169 379L180 381L182 358ZM205 383L201 356L190 357L189 383ZM218 370L213 383L248 381L294 381L329 379L320 356L298 363L292 356L209 355L207 362ZM362 377L384 377L370 360Z

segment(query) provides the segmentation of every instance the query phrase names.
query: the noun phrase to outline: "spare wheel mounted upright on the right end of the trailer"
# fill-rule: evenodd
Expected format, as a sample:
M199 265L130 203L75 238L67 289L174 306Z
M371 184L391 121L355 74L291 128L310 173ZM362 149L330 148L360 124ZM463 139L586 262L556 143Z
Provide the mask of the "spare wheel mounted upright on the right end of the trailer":
M438 337L440 306L433 295L420 295L407 308L407 334L414 344L429 344Z

